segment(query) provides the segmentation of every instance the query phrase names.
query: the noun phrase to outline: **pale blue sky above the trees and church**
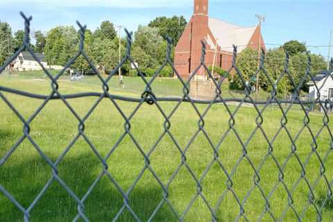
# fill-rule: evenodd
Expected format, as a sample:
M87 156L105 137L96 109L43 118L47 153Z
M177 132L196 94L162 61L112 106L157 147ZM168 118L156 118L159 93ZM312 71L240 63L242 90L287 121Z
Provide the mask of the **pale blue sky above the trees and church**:
M333 0L210 0L209 5L210 17L239 26L255 26L257 13L266 16L262 35L268 48L299 40L325 57L333 29L332 10ZM33 16L32 31L76 26L77 20L91 30L110 20L135 31L159 16L183 15L188 20L193 0L0 0L0 21L8 22L12 31L24 28L20 11Z

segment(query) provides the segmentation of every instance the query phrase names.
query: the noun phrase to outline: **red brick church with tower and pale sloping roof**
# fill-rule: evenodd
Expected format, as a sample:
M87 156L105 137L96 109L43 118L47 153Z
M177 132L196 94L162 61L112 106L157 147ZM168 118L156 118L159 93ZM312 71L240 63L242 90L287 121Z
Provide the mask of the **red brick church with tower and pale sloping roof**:
M194 0L194 14L175 49L174 64L182 78L188 78L200 65L201 40L206 43L207 67L214 63L215 67L224 70L232 66L233 44L238 46L238 53L246 47L257 50L259 42L261 48L266 49L259 26L241 27L213 19L208 15L208 0ZM205 70L200 69L197 76L205 78Z

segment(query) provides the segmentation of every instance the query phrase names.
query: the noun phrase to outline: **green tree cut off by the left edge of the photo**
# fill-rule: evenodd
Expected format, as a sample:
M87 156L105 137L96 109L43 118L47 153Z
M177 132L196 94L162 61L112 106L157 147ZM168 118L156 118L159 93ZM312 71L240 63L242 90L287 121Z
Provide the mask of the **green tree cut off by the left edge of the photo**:
M6 22L0 21L0 66L13 52L12 30Z

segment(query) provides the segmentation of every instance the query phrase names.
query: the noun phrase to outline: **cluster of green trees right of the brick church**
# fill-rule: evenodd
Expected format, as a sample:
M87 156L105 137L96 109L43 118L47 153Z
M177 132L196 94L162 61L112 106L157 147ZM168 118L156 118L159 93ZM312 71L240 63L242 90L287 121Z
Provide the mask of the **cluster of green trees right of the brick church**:
M287 54L289 55L288 71L293 78L293 83L287 74L284 74L284 64ZM291 40L279 48L268 49L264 63L264 68L266 69L268 76L274 83L275 80L278 80L279 77L284 74L283 78L281 78L278 83L278 94L280 96L285 96L290 94L290 92L294 92L295 88L293 87L293 84L298 86L303 79L305 79L305 83L302 84L300 89L307 91L308 86L306 83L310 80L309 76L306 78L309 58L311 58L311 75L316 75L319 71L326 69L327 63L325 58L308 51L304 42ZM255 71L257 71L257 59L257 51L250 48L244 49L244 51L237 56L237 67L239 67L239 70L246 81L254 78L253 75L255 74ZM232 75L232 77L230 77L230 82L231 87L234 89L244 89L245 87L238 74ZM271 91L272 86L263 72L259 74L259 87L263 90Z

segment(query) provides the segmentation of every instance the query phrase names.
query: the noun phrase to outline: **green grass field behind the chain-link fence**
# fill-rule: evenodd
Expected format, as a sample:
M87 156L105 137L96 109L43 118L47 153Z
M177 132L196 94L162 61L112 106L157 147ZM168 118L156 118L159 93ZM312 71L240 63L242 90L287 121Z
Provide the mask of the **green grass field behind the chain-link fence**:
M140 78L125 78L126 89L133 85L137 87L135 92L121 89L117 79L110 83L110 92L124 96L139 96L139 88L144 89ZM96 78L85 78L82 81L71 83L68 78L59 81L60 93L71 94L77 92L102 92L101 85ZM113 84L113 85L112 85ZM158 84L158 85L157 85ZM0 77L0 85L12 87L37 94L49 94L51 92L49 80L46 78L21 78L20 76ZM139 86L139 87L138 87ZM167 87L166 87L167 86ZM175 79L157 78L153 85L158 95L178 96L182 87ZM165 90L172 92L165 92ZM6 92L1 92L6 98L28 119L33 112L42 104L42 100L29 99ZM68 99L68 103L84 117L92 108L97 97ZM137 103L116 101L127 117L137 108ZM164 112L169 114L177 103L160 102ZM288 112L287 128L292 137L296 137L303 126L304 113L295 109ZM207 105L196 105L201 113ZM235 110L230 105L230 110ZM0 99L0 158L2 158L17 140L22 137L23 124L8 108L6 103ZM255 119L257 112L249 107L241 107L234 117L234 128L239 137L246 142L253 130L256 128ZM273 139L278 132L282 118L281 112L276 108L267 108L263 114L264 128L268 139ZM309 114L312 133L316 135L323 126L323 115L318 112ZM309 204L309 188L307 182L313 187L314 201L321 208L327 196L327 185L321 176L321 164L318 156L309 155L311 148L311 135L305 129L296 140L296 154L301 162L305 164L305 177L307 182L300 178L302 169L296 158L291 155L286 163L286 158L291 154L291 141L282 130L273 142L273 155L280 166L284 166L283 182L292 194L289 200L288 194L282 182L279 182L279 170L273 157L268 155L268 143L263 134L257 130L253 139L248 142L246 149L251 162L244 157L243 148L236 135L230 131L219 146L219 162L228 172L232 182L218 162L213 162L214 152L212 146L201 132L186 150L186 164L191 169L192 175L187 167L182 164L182 155L169 135L165 135L151 152L157 139L164 132L164 117L157 110L156 105L143 104L136 114L130 119L130 132L136 139L137 144L144 153L149 153L150 167L158 178L168 185L169 203L173 206L179 216L184 216L185 221L210 221L211 212L201 196L198 194L194 177L200 180L202 194L207 203L216 209L219 221L234 221L240 213L240 207L235 196L244 204L244 214L249 221L257 221L265 212L266 202L261 191L255 186L255 169L260 178L256 178L257 185L262 189L270 203L271 213L276 219L284 216L284 221L297 221L289 203L293 208L304 216L303 221L316 221L316 209ZM178 142L182 151L185 150L191 138L198 130L199 117L190 103L182 103L178 110L172 115L170 132ZM205 130L212 140L212 144L219 144L223 134L229 129L230 116L222 104L215 104L205 116ZM110 99L103 99L94 112L85 121L85 135L94 144L101 156L107 157L119 141L124 130L125 121ZM330 122L328 126L332 128ZM78 134L78 121L62 101L50 101L42 112L31 123L31 137L42 152L56 162L62 155L71 140ZM333 153L330 151L332 141L327 129L318 136L316 143L317 152L325 161L325 176L330 182L333 179ZM266 162L260 167L262 161ZM137 181L145 167L145 160L139 152L129 135L123 137L117 148L113 150L110 157L105 160L108 164L108 172L119 184L123 191L128 194L128 204L142 221L147 221L156 207L163 200L163 189L157 182L153 173L146 169L142 177ZM235 168L236 164L238 167ZM173 173L180 167L180 171L174 176ZM207 167L210 167L207 171ZM83 137L71 147L68 153L58 164L58 175L66 185L78 196L83 198L89 187L103 171L103 164L92 151ZM207 173L205 173L207 171ZM231 174L232 172L232 174ZM205 176L203 177L203 174ZM24 207L28 207L43 189L46 182L51 178L52 170L36 149L27 139L20 144L8 160L0 167L0 184L16 198ZM174 178L173 178L174 176ZM173 180L171 180L173 178ZM300 182L298 182L300 180ZM135 183L136 182L136 183ZM296 182L297 185L296 185ZM316 184L314 184L316 182ZM134 186L134 189L131 187ZM296 185L296 186L295 186ZM229 187L229 189L228 189ZM271 191L274 189L273 193ZM223 199L221 195L224 194ZM235 196L234 196L235 195ZM195 198L195 199L194 199ZM191 202L193 200L193 202ZM192 203L192 204L191 204ZM112 221L123 206L123 196L108 176L104 175L91 194L85 199L85 215L90 221ZM189 205L191 204L191 207ZM186 211L189 207L189 210ZM216 207L216 208L215 208ZM78 214L78 205L57 180L53 180L49 189L31 210L31 221L71 221ZM323 221L332 221L333 203L327 201L323 208ZM303 212L303 213L302 213ZM285 214L285 215L284 215ZM176 221L172 210L164 203L155 214L153 221ZM23 214L14 204L0 194L0 221L23 221ZM119 221L135 221L128 210L124 210L119 216ZM245 221L241 218L240 221ZM272 221L268 212L263 215L262 221Z

